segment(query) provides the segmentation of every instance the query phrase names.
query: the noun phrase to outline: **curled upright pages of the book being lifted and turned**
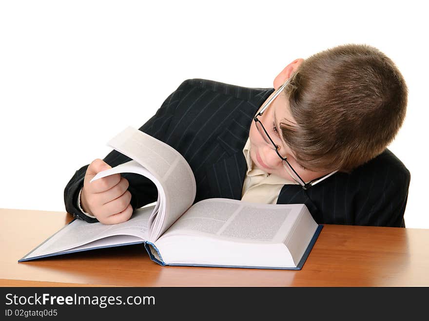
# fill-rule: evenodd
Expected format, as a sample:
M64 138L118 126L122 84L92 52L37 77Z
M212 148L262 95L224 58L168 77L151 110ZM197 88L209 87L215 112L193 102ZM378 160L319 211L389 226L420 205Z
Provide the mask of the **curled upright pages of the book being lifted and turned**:
M133 160L99 172L92 180L117 172L135 172L151 179L158 189L158 208L148 223L149 241L154 242L193 204L194 173L178 151L132 127L120 132L108 145Z

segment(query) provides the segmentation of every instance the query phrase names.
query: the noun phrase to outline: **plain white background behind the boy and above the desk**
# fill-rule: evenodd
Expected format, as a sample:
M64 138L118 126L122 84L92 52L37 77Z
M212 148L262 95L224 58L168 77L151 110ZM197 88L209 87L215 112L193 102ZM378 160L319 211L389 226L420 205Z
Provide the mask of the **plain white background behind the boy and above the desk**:
M411 172L406 225L429 228L428 30L417 1L1 1L0 208L65 211L75 171L185 79L273 87L295 58L366 43L407 81L389 148Z

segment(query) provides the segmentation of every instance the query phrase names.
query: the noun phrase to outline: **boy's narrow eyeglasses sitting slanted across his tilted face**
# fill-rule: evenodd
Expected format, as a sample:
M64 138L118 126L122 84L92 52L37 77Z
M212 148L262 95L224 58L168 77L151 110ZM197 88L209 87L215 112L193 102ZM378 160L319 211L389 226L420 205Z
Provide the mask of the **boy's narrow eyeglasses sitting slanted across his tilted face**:
M266 109L268 108L268 106L270 106L270 104L273 102L273 100L283 91L283 89L286 87L286 85L288 84L289 79L286 80L286 82L281 85L278 89L276 89L274 91L273 96L262 106L262 108L259 110L259 113L257 113L254 116L254 122L255 122L255 126L256 129L258 130L259 134L262 136L262 138L264 139L264 141L267 144L271 144L273 145L273 150L277 153L278 157L280 157L280 159L282 160L282 165L285 168L285 170L289 173L289 175L291 175L291 177L302 186L303 189L309 189L310 187L312 187L313 185L316 185L317 183L323 181L324 179L330 177L331 175L333 175L334 173L336 173L338 170L334 170L333 172L331 172L330 174L327 175L323 175L319 178L313 179L310 182L306 183L304 182L304 180L298 175L298 173L292 168L291 164L288 162L287 157L282 157L279 153L279 146L276 145L273 142L273 139L271 139L270 135L268 134L268 132L266 131L264 125L261 123L261 121L258 119L258 116L262 116L262 114L266 111Z

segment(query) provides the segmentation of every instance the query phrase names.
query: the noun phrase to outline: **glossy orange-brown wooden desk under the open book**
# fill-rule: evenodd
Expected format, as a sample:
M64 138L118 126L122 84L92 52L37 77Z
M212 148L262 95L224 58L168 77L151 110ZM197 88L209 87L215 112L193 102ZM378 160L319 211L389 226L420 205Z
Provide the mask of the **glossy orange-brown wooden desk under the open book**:
M70 222L0 209L0 286L429 286L429 229L325 225L300 271L160 266L143 245L17 261Z

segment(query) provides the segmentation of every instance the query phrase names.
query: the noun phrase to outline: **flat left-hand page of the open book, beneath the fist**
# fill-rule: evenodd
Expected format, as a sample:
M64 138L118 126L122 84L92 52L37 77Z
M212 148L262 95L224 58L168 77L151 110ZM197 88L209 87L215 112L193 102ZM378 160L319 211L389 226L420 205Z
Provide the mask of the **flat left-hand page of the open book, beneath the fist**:
M22 259L63 252L115 235L132 235L146 241L148 239L149 216L153 208L154 206L139 208L130 220L115 225L104 225L99 222L88 224L83 220L76 219Z

